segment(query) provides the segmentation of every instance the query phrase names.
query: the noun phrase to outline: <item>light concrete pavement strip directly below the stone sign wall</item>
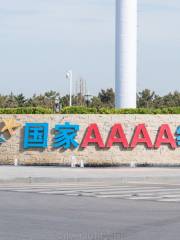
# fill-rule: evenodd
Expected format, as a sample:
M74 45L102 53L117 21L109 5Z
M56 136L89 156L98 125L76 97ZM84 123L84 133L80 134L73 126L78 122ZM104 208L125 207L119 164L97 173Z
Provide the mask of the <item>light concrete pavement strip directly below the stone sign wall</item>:
M0 166L0 182L155 182L179 184L180 168L62 168Z

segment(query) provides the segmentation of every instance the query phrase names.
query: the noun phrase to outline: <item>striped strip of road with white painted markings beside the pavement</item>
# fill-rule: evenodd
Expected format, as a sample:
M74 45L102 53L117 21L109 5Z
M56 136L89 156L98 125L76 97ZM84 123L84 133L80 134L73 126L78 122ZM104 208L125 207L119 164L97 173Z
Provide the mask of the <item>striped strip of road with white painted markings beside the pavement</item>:
M77 197L117 198L158 202L180 202L180 184L149 183L56 183L4 184L0 191Z

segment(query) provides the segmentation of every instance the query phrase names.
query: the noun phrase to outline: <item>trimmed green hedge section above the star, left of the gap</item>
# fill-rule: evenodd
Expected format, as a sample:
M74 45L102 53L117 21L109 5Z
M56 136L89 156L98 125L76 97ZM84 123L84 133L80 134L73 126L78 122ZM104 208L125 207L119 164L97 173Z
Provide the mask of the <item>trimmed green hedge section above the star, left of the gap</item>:
M51 114L53 111L42 107L0 108L0 114Z

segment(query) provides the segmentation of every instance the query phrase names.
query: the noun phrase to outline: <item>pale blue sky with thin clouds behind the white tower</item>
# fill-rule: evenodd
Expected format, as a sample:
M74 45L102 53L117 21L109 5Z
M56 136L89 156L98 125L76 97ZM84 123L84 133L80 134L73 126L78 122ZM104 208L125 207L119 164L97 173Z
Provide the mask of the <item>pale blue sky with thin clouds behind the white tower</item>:
M114 0L0 0L0 93L114 88ZM180 1L139 0L138 90L180 90Z

